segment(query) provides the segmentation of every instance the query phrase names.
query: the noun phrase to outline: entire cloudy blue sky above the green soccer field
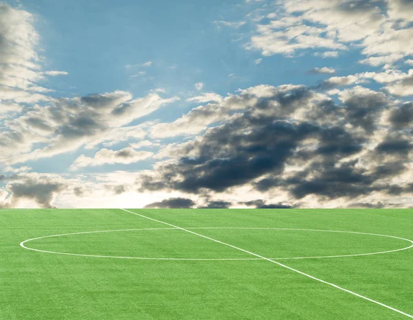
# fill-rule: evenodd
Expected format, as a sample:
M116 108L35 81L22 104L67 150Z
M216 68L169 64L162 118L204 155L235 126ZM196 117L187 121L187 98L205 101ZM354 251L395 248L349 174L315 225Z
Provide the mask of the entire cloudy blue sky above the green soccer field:
M413 207L412 0L0 1L0 208Z

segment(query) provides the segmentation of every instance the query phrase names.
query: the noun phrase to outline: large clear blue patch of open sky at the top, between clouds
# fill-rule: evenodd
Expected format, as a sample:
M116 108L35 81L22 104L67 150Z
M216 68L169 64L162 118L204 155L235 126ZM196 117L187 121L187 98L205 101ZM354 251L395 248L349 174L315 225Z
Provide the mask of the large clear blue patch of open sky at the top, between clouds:
M69 73L54 88L72 95L123 89L141 95L153 88L170 93L193 91L204 82L205 89L220 93L240 87L268 83L313 84L324 77L311 77L306 68L324 67L326 61L311 54L288 58L271 56L260 65L257 50L245 50L251 21L245 19L254 3L242 1L32 1L25 8L36 12L45 55L52 69ZM162 10L159 10L162 8ZM32 11L31 11L32 10ZM237 23L241 27L220 25ZM328 61L346 75L351 50L341 60ZM346 56L350 56L347 58ZM335 59L333 59L335 60ZM140 65L151 61L151 68ZM126 68L127 65L133 67ZM361 68L358 70L372 69ZM138 76L139 72L145 76ZM234 76L229 77L230 74ZM234 79L235 78L235 79ZM219 81L217 81L219 79Z

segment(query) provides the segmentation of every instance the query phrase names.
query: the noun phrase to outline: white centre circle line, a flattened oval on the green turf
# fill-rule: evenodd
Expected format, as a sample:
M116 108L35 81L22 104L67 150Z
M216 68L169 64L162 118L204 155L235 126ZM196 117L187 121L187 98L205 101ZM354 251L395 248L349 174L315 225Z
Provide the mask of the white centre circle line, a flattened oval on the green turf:
M356 253L351 255L321 255L317 257L289 257L289 258L268 258L271 260L296 260L296 259L324 259L324 258L345 258L345 257L354 257L360 255L378 255L383 253L391 253L396 251L403 251L413 247L413 241L408 240L405 238L399 238L396 236L387 236L383 234L377 233L364 233L364 232L356 232L356 231L336 231L336 230L319 230L319 229L292 229L292 228L260 228L260 227L187 227L184 229L242 229L242 230L293 230L293 231L321 231L321 232L335 232L335 233L355 233L355 234L362 234L368 236L381 236L386 238L395 238L399 240L405 240L407 242L412 243L410 247L405 247L401 249L394 249L390 251L379 251L379 252L372 252L372 253ZM195 261L219 261L219 260L262 260L261 258L144 258L144 257L124 257L124 256L115 256L115 255L86 255L81 253L63 253L58 251L45 251L40 249L29 248L25 246L26 242L32 240L39 240L43 238L53 238L53 237L60 237L60 236L75 236L78 234L87 234L87 233L105 233L105 232L120 232L120 231L147 231L147 230L179 230L177 228L146 228L146 229L118 229L118 230L103 230L103 231L84 231L84 232L75 232L75 233L63 233L63 234L55 234L52 236L43 236L38 238L32 238L21 242L20 246L24 249L32 250L32 251L39 251L43 253L54 253L54 254L65 254L65 255L78 255L81 257L93 257L93 258L117 258L117 259L139 259L139 260L195 260Z

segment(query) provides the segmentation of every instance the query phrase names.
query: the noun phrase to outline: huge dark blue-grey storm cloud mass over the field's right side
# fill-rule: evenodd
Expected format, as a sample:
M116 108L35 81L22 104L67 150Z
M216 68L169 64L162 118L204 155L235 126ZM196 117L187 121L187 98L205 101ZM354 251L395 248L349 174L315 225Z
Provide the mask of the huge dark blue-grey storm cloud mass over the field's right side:
M332 100L308 104L314 93L306 88L273 92L266 91L242 115L179 146L178 159L142 176L140 190L213 194L251 185L260 192L278 188L297 199L313 195L321 203L372 192L409 192L383 180L403 174L407 157L394 161L381 155L408 155L411 139L392 133L381 143L374 142L377 148L369 151L368 163L358 156L372 144L381 113L390 109L383 93L356 87L344 91L341 104ZM403 110L407 108L403 105ZM297 110L308 115L307 121L291 119ZM393 111L390 122L402 121ZM344 161L346 157L353 160ZM294 173L286 171L288 165L297 166ZM264 201L251 205L295 207Z

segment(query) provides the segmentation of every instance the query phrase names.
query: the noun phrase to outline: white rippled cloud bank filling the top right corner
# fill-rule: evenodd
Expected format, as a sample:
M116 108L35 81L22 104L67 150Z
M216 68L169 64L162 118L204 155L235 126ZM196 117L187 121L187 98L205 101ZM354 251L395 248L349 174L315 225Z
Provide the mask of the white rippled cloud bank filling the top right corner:
M300 49L334 49L317 53L337 56L359 41L361 60L385 65L413 54L413 5L405 0L282 0L268 24L257 25L249 48L264 56L293 55Z

